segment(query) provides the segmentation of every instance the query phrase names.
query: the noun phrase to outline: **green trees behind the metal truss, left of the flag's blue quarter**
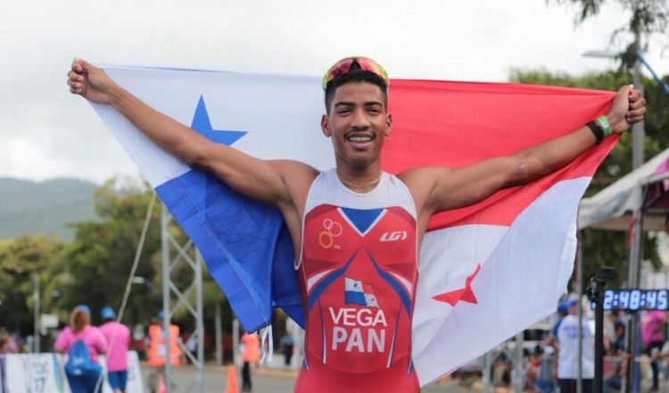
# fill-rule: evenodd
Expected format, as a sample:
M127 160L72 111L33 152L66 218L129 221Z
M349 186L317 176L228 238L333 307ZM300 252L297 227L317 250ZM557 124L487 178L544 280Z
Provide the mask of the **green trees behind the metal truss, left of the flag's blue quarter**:
M79 303L91 307L94 322L99 322L97 311L104 305L111 305L118 310L152 195L151 188L136 180L109 180L95 191L95 211L100 219L74 224L75 239L64 248L62 258L52 267L52 290L62 292L59 305L65 310L61 314L63 322L67 321L71 307ZM126 324L146 325L155 320L162 308L159 206L156 203L153 209L136 272L137 277L145 279L145 285L133 285L131 288L123 319ZM170 226L169 231L179 244L186 243L186 234L176 223ZM173 253L176 254L176 251ZM178 288L186 290L194 280L194 272L181 261L174 266L171 278ZM194 304L194 291L188 292L187 296ZM224 305L224 323L231 321L225 297L211 280L206 268L202 271L202 299L206 331L213 331L213 305ZM181 325L182 330L192 331L193 320L188 317L186 308L181 306L174 311L174 320Z

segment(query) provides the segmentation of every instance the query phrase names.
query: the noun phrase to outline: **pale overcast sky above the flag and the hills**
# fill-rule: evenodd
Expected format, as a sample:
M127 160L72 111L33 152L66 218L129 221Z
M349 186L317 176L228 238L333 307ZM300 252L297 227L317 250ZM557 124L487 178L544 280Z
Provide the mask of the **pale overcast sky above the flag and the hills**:
M608 2L574 24L553 0L22 0L0 5L0 177L136 175L86 100L72 96L73 57L151 65L322 75L362 54L391 78L503 82L513 68L580 75L615 68L586 58L616 49L629 13ZM647 60L669 73L666 38ZM647 73L648 75L648 73ZM314 124L318 130L318 124Z

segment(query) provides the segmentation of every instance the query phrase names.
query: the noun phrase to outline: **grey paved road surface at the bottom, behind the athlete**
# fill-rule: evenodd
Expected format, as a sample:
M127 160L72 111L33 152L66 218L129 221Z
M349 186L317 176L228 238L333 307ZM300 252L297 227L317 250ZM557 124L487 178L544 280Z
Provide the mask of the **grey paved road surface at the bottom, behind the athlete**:
M147 372L143 369L143 375ZM194 381L197 376L195 369L190 366L180 367L175 372L176 389L173 393L187 391L198 392ZM226 390L227 367L206 366L204 371L204 392L224 393ZM295 372L281 370L256 369L253 370L252 383L254 393L292 393L295 384ZM237 370L237 384L241 384L241 376ZM190 390L189 390L190 389ZM457 382L432 384L425 387L425 393L472 393L473 390L460 387ZM149 393L145 391L145 393Z

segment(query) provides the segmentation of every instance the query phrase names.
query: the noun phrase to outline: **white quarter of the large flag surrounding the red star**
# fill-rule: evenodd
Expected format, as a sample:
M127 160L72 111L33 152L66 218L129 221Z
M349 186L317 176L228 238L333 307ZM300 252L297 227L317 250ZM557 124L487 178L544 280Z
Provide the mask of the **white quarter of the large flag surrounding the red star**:
M467 354L469 360L483 355L500 340L555 312L574 266L578 199L573 196L582 195L589 182L561 181L510 228L466 225L425 235L413 330L421 382L462 365L467 359L458 354ZM557 231L564 236L556 238ZM477 263L482 264L472 283L477 304L434 301L444 288L462 288Z

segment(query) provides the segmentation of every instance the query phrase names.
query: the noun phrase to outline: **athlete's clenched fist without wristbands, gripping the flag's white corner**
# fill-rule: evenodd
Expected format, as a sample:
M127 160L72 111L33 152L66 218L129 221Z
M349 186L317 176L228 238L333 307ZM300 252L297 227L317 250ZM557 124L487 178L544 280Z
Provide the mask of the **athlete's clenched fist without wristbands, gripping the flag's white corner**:
M68 72L68 85L70 93L84 96L97 104L109 104L111 89L116 86L103 70L78 57L74 58Z

